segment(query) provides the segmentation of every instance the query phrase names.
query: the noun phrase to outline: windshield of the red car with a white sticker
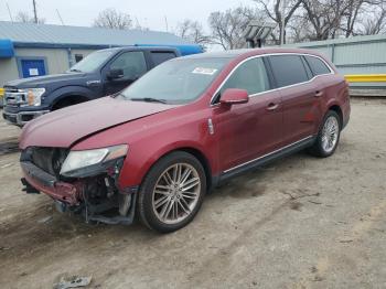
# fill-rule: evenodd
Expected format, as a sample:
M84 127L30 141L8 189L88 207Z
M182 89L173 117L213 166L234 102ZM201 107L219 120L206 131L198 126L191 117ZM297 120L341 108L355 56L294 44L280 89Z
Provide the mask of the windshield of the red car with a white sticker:
M186 104L196 99L229 58L178 58L165 62L121 92L130 100Z

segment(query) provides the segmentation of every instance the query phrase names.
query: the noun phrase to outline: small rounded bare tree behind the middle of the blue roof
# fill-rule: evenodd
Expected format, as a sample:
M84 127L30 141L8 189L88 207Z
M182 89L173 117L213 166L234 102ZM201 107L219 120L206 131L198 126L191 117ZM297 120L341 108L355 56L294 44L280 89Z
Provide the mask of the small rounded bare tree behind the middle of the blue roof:
M94 26L108 29L130 29L131 18L127 13L119 12L112 8L108 8L99 12L94 20Z

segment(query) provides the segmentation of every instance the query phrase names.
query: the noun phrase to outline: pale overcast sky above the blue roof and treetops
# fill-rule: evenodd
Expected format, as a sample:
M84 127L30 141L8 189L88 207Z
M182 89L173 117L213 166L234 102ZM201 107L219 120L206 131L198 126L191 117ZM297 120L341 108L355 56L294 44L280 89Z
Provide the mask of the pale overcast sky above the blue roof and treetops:
M10 20L7 3L14 17L19 11L32 15L32 0L0 0L0 20ZM115 8L131 15L142 26L151 30L165 31L165 18L169 31L173 31L176 23L184 19L200 21L207 28L207 18L213 11L224 11L238 4L254 6L253 0L36 0L37 17L44 18L46 23L61 24L56 9L66 25L87 26L99 11Z

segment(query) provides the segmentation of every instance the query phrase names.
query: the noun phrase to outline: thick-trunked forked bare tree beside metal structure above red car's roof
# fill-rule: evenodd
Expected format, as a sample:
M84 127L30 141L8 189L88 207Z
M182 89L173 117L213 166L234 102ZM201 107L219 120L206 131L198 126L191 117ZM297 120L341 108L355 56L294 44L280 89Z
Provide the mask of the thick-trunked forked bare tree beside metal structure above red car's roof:
M276 33L272 33L272 39L275 40L275 42L280 43L281 41L281 29L282 29L282 9L281 6L282 0L254 0L255 2L257 2L257 6L259 9L261 9L264 11L264 13L275 23L277 23L277 34L279 36L276 35ZM286 4L286 15L285 15L285 28L290 23L293 14L300 9L300 4L301 4L302 0L289 0L287 1ZM286 43L286 35L283 39L283 43Z

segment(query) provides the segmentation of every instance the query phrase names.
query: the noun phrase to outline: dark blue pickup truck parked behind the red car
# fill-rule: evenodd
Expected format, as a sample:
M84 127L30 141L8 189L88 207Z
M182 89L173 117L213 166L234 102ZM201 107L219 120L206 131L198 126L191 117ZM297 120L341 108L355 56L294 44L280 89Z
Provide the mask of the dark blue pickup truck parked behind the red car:
M22 127L52 110L118 93L162 62L201 53L197 47L128 46L94 52L64 74L7 83L2 116Z

